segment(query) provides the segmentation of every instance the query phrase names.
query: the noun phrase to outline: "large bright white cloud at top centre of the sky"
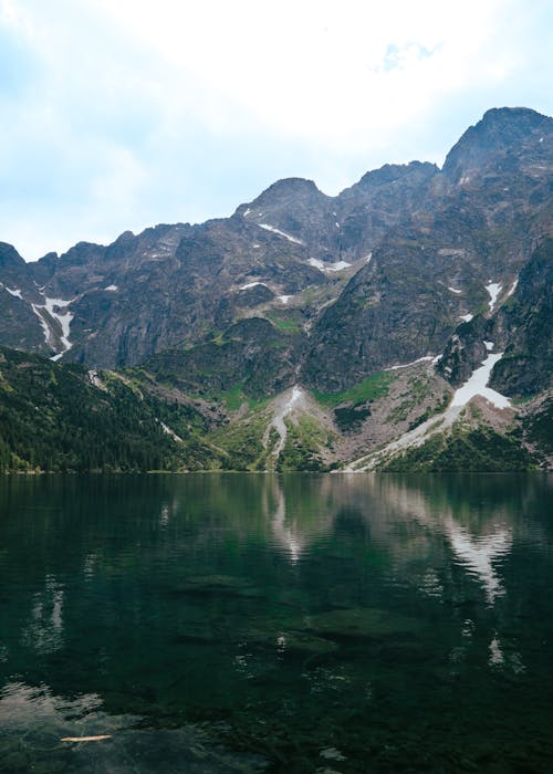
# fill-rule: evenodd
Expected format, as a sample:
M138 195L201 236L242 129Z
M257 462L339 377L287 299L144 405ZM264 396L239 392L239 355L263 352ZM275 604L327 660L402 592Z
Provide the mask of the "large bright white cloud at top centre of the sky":
M367 132L369 143L405 125L462 87L477 62L482 77L504 6L100 0L106 19L201 86L205 101L195 108L212 129L248 117L272 133L331 146L358 143Z

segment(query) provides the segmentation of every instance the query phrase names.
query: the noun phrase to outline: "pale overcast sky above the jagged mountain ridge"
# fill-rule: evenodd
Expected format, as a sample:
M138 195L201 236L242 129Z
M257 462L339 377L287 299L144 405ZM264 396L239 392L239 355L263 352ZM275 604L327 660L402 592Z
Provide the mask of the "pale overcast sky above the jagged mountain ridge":
M0 241L27 260L441 165L489 107L553 115L551 0L0 0Z

